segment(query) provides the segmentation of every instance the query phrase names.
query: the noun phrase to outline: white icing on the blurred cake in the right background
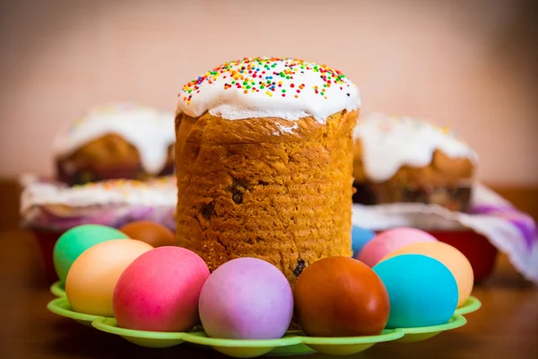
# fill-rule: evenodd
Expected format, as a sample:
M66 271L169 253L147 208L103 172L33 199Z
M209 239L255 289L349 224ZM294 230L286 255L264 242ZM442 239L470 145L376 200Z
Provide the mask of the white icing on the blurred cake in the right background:
M354 136L362 144L366 176L377 182L389 180L402 166L429 165L435 150L451 158L478 160L456 133L418 118L374 113L360 119Z

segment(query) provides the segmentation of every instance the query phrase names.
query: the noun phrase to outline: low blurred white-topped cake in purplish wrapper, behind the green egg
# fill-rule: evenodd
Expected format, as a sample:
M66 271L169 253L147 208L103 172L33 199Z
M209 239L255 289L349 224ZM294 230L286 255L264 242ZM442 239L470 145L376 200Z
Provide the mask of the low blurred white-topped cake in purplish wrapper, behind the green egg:
M39 232L64 232L88 223L120 227L153 221L175 229L176 179L103 180L84 185L26 178L20 215L22 225Z

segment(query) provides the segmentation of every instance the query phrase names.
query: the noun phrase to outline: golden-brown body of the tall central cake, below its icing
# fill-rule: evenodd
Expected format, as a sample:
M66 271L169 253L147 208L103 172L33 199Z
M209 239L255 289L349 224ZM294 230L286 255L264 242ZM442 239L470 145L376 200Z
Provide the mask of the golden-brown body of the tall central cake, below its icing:
M214 270L265 259L294 285L318 258L351 256L357 111L314 118L176 118L178 245ZM281 133L284 127L298 127Z

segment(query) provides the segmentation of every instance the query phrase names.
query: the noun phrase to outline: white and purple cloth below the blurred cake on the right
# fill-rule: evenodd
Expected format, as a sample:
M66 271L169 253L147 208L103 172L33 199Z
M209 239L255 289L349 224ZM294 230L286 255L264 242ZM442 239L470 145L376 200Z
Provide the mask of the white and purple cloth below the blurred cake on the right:
M533 218L481 183L473 186L471 208L470 213L461 213L422 204L355 204L352 223L373 231L401 226L422 230L470 229L506 253L517 271L538 284L538 235Z

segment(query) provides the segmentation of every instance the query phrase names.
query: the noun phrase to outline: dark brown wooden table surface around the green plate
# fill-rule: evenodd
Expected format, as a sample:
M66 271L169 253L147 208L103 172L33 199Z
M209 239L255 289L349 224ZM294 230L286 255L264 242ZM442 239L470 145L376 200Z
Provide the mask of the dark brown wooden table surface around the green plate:
M40 271L36 243L29 232L0 232L0 358L225 358L210 350L181 345L147 349L86 328L46 309L53 299ZM468 323L424 342L385 343L356 358L538 358L538 290L499 258L488 281L473 294L482 309ZM328 358L328 355L308 355Z

